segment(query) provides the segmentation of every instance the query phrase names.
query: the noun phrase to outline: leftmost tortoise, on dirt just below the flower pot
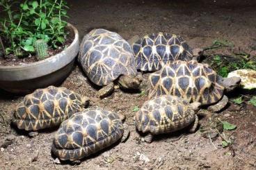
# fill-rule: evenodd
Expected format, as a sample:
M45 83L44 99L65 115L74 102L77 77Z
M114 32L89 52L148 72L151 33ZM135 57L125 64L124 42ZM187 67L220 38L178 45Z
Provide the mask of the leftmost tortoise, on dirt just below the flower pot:
M31 131L58 126L75 112L88 104L88 97L67 90L65 87L49 86L35 90L24 97L14 112L13 124L19 129Z

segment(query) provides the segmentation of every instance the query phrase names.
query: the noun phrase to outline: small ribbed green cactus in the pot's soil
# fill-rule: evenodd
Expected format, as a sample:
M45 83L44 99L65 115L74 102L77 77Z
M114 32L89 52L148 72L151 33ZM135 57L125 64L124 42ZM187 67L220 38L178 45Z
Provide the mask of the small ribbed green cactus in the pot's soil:
M48 55L47 43L44 40L36 40L34 46L38 60L45 59L45 57Z

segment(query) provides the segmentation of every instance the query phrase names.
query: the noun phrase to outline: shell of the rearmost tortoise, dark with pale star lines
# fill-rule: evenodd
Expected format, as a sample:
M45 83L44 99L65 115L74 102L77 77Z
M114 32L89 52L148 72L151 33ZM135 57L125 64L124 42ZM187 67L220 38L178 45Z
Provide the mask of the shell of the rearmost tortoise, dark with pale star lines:
M189 61L193 58L189 45L182 37L168 33L145 35L132 48L136 68L141 71L157 71L168 61Z

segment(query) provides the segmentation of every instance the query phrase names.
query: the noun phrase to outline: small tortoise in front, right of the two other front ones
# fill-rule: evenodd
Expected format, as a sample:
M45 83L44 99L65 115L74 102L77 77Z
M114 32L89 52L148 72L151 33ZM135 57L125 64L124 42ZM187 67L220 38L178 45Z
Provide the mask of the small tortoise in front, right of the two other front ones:
M152 142L154 135L171 133L182 128L195 132L198 126L200 103L188 101L169 94L146 101L134 117L136 129L145 133L145 142Z

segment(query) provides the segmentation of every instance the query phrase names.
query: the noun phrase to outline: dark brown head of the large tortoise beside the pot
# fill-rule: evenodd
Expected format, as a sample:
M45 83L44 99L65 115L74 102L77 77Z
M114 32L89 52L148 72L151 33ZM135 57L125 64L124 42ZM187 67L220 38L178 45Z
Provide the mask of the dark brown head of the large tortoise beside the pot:
M135 76L120 76L118 84L124 89L139 89L141 80Z

